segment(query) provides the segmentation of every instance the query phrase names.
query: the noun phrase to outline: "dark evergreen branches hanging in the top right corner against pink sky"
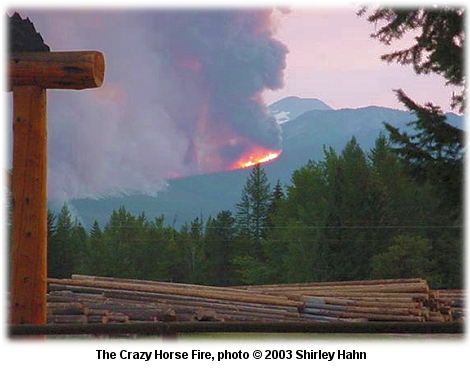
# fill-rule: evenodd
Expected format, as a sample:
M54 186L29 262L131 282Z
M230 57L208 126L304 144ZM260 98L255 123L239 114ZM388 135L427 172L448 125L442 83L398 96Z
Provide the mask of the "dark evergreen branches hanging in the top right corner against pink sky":
M358 14L364 16L366 8ZM382 60L412 65L417 74L436 73L448 84L465 89L464 40L465 9L462 7L378 8L367 15L374 24L372 34L385 45L408 33L417 34L407 49L382 55ZM465 109L465 94L452 96L453 106Z

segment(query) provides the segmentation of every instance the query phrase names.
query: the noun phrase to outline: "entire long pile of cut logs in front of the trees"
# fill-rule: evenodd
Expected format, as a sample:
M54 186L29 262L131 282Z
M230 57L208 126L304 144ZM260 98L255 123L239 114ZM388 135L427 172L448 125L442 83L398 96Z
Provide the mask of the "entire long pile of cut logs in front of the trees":
M48 279L48 322L463 319L463 291L423 279L215 287L73 275Z

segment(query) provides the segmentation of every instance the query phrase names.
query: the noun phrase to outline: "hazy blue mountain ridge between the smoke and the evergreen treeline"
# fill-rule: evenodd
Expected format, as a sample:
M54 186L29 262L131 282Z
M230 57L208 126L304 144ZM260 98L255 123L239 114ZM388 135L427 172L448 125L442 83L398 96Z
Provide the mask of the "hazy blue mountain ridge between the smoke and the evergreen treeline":
M453 113L448 117L450 123L463 127L463 117ZM340 152L355 136L361 148L368 151L379 133L385 132L383 122L403 130L412 120L409 111L379 106L304 111L282 124L282 154L263 168L271 186L278 180L286 185L293 171L308 160L321 160L325 146ZM135 193L123 197L72 199L69 203L86 229L95 219L101 226L105 225L112 211L120 206L133 214L144 212L149 219L164 215L166 223L178 227L196 217L215 217L222 210L234 212L250 172L251 168L246 168L170 179L167 188L158 191L156 196ZM57 211L61 205L56 203L51 208Z

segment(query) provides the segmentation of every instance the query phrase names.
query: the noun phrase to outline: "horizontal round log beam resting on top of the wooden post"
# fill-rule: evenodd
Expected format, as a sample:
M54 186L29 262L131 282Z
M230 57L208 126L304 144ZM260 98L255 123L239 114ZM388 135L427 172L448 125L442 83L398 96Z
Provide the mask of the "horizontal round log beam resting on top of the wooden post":
M10 55L8 91L28 85L73 90L99 87L104 65L98 51L14 53Z

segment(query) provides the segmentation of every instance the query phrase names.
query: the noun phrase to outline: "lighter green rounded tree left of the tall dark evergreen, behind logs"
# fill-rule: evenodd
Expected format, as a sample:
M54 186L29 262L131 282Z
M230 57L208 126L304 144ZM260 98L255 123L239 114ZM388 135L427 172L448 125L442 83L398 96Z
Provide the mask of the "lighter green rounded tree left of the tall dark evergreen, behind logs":
M309 161L294 171L286 199L279 203L269 235L269 264L280 282L323 280L327 186L323 162ZM278 261L278 263L276 263Z

